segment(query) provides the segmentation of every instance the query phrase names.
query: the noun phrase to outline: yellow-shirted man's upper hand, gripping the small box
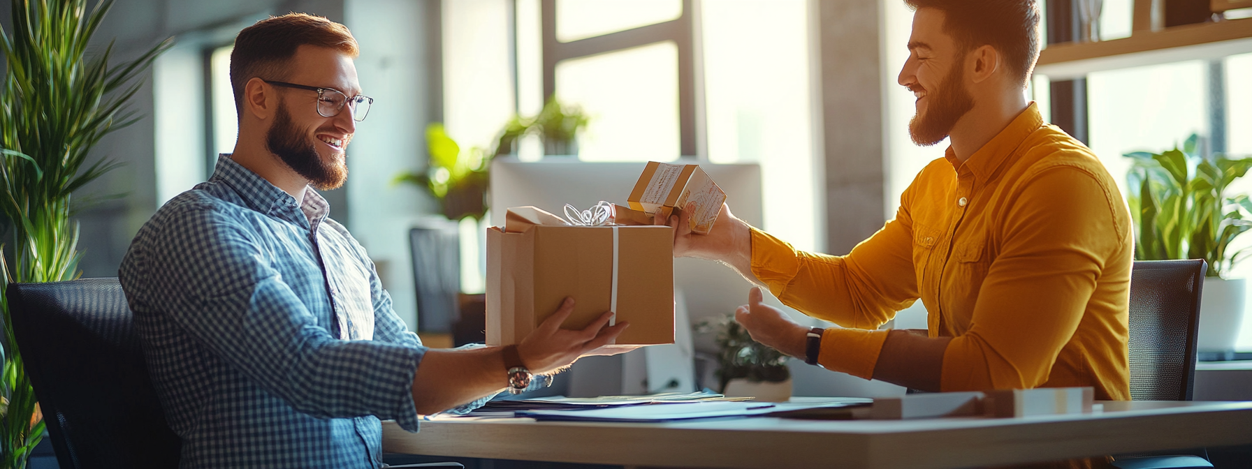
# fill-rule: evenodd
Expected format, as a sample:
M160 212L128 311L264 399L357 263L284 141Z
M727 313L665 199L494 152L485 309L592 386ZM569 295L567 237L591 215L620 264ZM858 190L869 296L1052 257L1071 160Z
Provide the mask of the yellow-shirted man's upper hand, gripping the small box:
M751 226L730 213L730 205L721 204L717 221L707 234L691 231L691 204L685 210L675 210L669 220L657 211L654 225L674 228L674 256L717 260L730 265L747 281L760 285L752 274Z

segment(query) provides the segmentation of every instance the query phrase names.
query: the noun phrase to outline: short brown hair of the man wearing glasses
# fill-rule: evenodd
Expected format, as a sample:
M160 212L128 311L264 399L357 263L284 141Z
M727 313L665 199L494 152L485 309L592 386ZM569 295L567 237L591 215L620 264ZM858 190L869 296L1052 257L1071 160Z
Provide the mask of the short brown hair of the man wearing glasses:
M292 13L257 21L239 31L230 51L235 113L243 113L243 88L248 80L254 76L283 80L288 63L302 45L336 49L353 59L359 54L348 26L322 16Z

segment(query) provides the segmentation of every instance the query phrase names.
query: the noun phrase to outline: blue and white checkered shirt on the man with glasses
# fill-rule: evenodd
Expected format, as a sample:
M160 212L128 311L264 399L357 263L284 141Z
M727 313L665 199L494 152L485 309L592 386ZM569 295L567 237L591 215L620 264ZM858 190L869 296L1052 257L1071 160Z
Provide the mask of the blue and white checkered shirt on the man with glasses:
M366 250L228 155L156 211L119 278L183 468L377 468L417 431L426 353Z

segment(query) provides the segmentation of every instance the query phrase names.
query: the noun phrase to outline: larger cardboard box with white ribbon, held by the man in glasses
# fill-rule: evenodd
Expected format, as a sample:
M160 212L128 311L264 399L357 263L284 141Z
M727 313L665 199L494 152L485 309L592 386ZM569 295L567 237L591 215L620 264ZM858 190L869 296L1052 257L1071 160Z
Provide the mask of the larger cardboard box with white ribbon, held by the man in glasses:
M674 229L568 226L536 208L508 209L487 230L487 345L520 343L566 296L582 329L603 311L630 321L620 345L674 343Z

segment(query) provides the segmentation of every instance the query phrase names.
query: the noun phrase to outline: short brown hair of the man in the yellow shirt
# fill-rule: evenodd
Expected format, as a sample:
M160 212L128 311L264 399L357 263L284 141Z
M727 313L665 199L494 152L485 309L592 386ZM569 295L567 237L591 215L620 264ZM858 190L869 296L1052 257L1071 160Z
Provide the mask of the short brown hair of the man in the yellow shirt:
M1025 86L1039 59L1038 0L904 0L910 9L944 13L944 31L962 53L990 45Z

